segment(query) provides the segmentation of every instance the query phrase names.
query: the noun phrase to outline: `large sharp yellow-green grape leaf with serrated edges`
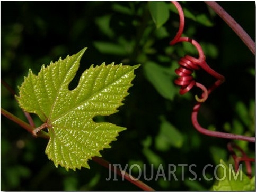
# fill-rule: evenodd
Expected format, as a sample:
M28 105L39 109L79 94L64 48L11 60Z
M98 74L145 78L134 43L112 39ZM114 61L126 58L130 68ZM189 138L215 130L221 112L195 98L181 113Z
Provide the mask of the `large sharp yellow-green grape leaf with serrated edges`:
M110 148L109 143L116 140L118 132L126 129L108 122L96 123L93 118L118 111L129 94L134 70L139 67L91 65L77 87L69 90L85 50L64 60L60 57L46 67L42 65L38 75L29 70L19 87L20 96L16 97L21 108L36 113L46 123L50 136L46 154L56 167L61 165L66 170L90 168L87 161L100 157L99 151Z

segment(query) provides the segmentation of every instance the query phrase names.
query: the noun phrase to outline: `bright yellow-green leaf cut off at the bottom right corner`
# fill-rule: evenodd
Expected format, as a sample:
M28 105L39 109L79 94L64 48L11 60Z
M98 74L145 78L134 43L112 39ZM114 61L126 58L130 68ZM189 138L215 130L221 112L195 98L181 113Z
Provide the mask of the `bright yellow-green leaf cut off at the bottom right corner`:
M221 159L220 164L224 165L226 172L223 167L218 167L218 178L216 184L213 186L215 191L254 191L255 190L255 177L249 179L242 170L241 172L235 173L234 170L229 168L225 162ZM242 179L240 175L242 174ZM231 177L229 177L231 175ZM237 178L234 176L237 175ZM222 180L223 179L223 180Z

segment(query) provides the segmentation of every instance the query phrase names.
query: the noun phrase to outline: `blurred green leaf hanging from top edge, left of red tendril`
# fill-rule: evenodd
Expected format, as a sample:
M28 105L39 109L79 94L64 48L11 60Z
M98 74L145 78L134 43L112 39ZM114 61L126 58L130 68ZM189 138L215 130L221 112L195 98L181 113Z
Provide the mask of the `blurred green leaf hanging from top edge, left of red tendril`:
M169 19L169 9L165 2L148 2L149 11L156 28L160 28Z

